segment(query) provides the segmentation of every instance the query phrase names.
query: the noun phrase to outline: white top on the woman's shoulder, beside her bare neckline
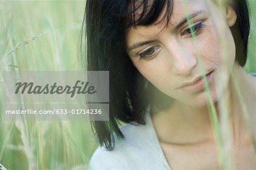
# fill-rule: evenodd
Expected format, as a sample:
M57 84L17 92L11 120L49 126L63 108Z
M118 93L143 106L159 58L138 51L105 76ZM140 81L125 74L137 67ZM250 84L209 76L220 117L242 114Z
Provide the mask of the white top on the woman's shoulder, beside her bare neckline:
M115 136L112 151L98 147L89 163L89 169L168 169L171 170L158 141L148 110L146 125L127 124L120 129L125 139Z

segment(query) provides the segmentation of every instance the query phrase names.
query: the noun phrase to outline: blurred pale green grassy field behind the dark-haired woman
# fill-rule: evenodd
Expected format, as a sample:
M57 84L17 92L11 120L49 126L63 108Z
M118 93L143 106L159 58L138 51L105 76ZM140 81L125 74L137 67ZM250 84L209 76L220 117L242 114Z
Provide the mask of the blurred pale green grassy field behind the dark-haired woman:
M256 1L249 2L248 73L256 72ZM79 35L84 5L84 1L0 1L1 77L3 70L82 70ZM1 120L0 124L0 163L7 169L86 169L97 145L89 121Z

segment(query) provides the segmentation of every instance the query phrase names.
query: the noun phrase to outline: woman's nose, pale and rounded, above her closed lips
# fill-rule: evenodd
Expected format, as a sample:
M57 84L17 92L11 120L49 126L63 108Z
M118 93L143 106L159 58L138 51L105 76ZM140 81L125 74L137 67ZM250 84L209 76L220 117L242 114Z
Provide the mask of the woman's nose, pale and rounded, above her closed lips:
M193 50L176 46L171 50L172 71L174 74L189 75L197 65L196 54Z

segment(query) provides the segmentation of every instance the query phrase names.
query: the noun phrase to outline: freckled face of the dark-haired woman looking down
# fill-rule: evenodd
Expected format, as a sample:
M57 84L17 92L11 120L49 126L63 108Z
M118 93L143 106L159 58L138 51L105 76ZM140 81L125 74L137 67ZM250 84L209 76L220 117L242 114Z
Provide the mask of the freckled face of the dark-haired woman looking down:
M216 102L229 81L230 72L225 70L234 66L236 49L229 27L236 22L236 14L232 8L219 7L212 1L184 2L174 1L167 27L163 20L130 28L126 32L126 50L139 72L164 94L203 107L207 92L200 79L203 72L198 56ZM186 15L191 16L192 32Z

